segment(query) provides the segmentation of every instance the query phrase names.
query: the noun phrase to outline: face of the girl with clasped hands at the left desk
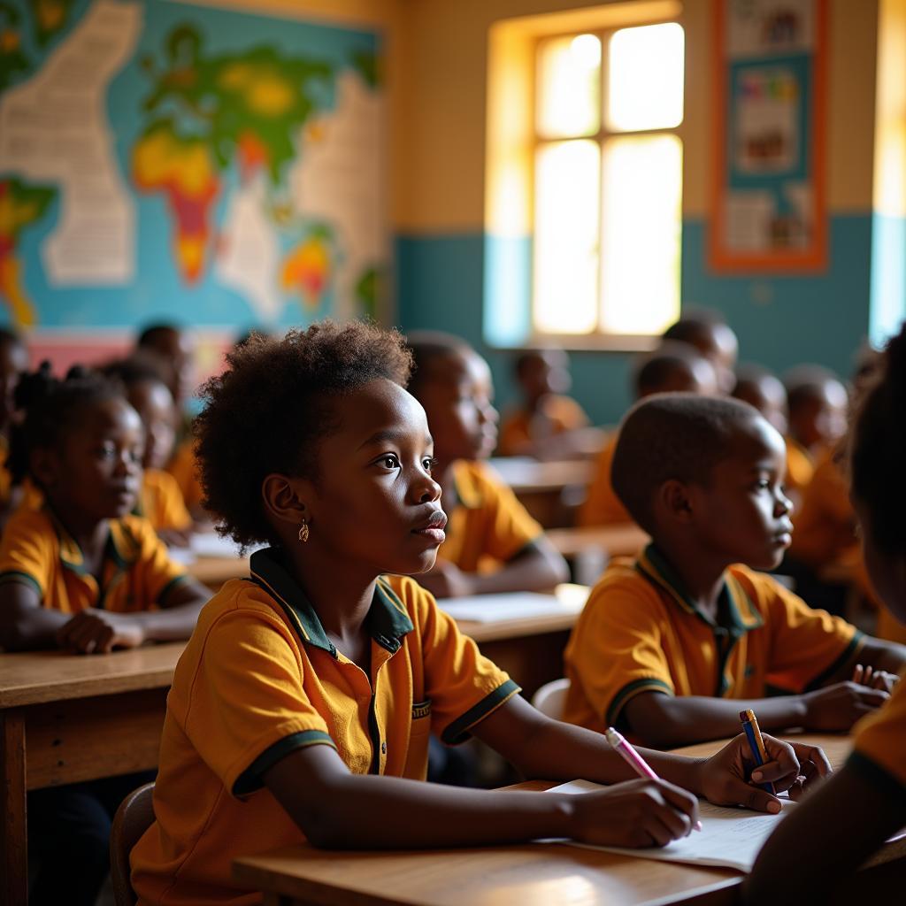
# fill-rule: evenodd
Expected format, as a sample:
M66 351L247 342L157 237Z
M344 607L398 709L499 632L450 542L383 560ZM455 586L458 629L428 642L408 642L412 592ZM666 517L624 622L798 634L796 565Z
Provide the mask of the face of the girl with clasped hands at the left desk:
M134 509L145 448L141 419L126 400L86 406L81 416L35 467L51 503L73 525Z

